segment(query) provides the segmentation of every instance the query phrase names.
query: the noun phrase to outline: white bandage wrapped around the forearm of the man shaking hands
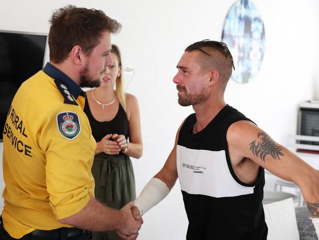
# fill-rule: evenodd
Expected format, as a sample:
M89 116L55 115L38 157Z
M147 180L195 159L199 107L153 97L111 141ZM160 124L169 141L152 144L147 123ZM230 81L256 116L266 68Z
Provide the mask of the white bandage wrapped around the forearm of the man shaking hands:
M167 185L160 179L152 178L143 188L139 196L134 200L134 206L138 208L141 216L157 205L169 193Z

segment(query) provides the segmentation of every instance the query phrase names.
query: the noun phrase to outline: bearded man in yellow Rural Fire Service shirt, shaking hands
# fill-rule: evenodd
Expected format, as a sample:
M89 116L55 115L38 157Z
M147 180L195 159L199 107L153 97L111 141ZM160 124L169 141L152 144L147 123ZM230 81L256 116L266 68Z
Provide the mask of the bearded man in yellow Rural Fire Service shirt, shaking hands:
M0 238L82 240L84 230L117 230L135 239L142 220L132 204L113 210L94 199L96 142L80 88L100 85L112 64L110 33L121 25L70 5L50 22L50 63L19 88L3 130Z

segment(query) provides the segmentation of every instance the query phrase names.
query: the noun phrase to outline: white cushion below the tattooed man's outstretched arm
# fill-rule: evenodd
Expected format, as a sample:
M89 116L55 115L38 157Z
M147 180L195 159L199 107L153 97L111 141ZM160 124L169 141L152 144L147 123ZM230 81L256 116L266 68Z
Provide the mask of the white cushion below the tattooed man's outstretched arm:
M267 240L299 240L292 198L264 205Z

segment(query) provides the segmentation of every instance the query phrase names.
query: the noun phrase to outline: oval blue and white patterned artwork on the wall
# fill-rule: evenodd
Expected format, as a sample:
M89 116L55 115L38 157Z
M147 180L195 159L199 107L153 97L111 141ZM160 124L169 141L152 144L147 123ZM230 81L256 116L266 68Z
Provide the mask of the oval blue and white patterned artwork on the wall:
M239 0L230 8L221 38L234 58L232 78L248 83L258 73L265 53L264 23L251 0Z

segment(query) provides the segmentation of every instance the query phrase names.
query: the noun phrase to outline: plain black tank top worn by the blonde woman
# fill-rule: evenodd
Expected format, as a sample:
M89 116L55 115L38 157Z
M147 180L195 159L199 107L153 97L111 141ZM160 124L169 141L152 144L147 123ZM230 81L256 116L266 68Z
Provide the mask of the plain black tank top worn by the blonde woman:
M87 98L85 98L85 105L83 111L89 119L92 128L92 135L95 141L99 142L103 137L105 137L106 134L114 133L117 133L118 135L123 134L125 138L128 139L129 123L126 117L126 113L122 108L121 104L119 104L119 109L117 111L116 116L114 117L114 119L110 121L95 120L91 113ZM105 114L107 114L107 112L105 112Z

